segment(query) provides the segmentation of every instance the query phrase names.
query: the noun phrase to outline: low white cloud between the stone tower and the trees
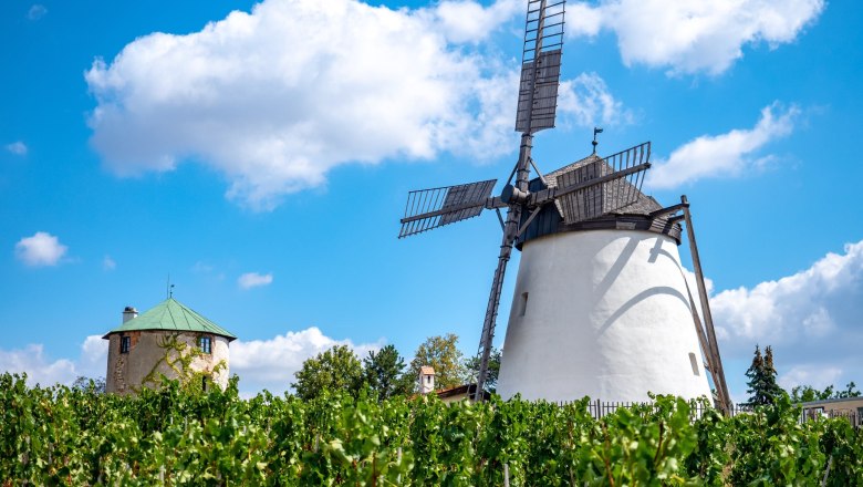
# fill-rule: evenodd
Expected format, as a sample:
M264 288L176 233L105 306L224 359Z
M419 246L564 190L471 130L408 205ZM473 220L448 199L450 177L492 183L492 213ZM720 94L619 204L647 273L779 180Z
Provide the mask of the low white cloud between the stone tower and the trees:
M231 374L240 376L243 391L267 388L279 394L295 381L293 374L306 359L335 345L347 345L363 358L368 351L378 350L382 343L354 344L351 340L335 340L324 335L316 327L269 340L236 340L231 343Z

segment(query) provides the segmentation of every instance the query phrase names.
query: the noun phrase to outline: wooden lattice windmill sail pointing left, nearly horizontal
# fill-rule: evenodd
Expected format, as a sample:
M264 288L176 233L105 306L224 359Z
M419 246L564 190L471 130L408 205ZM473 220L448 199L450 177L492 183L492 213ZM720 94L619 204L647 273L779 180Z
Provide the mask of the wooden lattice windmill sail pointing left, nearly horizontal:
M486 207L495 183L497 179L408 193L398 238L479 215Z

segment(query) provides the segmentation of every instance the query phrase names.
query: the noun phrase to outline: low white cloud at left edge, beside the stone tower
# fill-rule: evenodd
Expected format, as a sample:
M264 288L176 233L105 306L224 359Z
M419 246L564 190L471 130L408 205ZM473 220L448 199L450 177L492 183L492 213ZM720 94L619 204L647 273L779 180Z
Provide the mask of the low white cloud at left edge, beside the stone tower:
M52 360L41 344L23 349L0 349L0 371L27 373L29 385L70 385L79 376L104 377L107 360L107 340L100 335L87 336L81 344L77 360Z

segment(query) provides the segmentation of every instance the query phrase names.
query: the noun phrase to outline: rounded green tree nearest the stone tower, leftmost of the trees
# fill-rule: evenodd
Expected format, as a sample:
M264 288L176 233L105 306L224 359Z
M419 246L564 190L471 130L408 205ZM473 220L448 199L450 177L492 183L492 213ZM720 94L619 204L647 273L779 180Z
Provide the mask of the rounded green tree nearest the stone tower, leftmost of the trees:
M303 400L318 397L323 391L349 391L356 396L363 385L363 365L346 345L336 345L303 362L293 374L291 387Z

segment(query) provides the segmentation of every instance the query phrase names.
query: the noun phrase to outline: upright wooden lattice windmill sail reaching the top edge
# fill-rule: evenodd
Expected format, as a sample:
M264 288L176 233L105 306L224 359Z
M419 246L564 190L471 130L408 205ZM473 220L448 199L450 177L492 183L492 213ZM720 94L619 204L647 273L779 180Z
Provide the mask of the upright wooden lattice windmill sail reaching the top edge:
M516 131L554 126L558 108L564 1L531 0L524 28Z

